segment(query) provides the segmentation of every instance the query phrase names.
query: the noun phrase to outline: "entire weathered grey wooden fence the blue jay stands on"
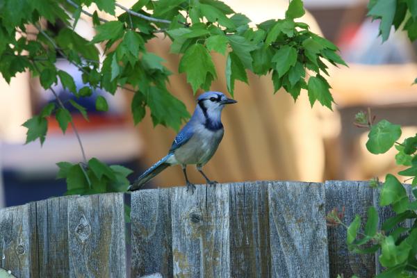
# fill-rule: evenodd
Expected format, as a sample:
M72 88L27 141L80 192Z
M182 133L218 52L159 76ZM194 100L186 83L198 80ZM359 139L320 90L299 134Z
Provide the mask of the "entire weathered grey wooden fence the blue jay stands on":
M347 252L345 229L327 227L325 215L344 206L345 222L366 220L377 199L365 181L140 190L130 240L122 193L46 199L0 210L0 268L16 277L373 277L375 255Z

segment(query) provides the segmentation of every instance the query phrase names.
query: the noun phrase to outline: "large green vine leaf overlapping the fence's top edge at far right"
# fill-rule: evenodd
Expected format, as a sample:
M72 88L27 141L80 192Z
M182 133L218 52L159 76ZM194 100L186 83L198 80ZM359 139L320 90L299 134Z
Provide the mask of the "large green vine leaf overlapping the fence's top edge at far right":
M407 192L392 174L387 174L384 185L379 193L379 204L381 206L388 206L393 204L393 209L396 213L402 213L407 210L409 199Z

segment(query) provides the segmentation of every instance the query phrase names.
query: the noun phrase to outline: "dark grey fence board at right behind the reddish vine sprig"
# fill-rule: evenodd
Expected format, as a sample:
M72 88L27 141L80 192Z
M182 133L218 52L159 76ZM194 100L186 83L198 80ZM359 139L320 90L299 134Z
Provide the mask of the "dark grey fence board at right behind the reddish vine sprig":
M366 222L368 207L373 205L373 188L368 181L326 181L326 211L345 208L343 222L351 223L354 216L359 214L362 219L361 229ZM347 251L346 229L328 227L327 239L329 241L330 277L344 275L344 277L368 278L374 277L375 255L353 254Z

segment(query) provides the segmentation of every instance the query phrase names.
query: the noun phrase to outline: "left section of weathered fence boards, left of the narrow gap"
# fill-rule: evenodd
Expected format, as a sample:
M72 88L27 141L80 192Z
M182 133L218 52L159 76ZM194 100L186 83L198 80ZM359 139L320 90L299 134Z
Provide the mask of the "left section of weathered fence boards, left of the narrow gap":
M126 277L122 194L0 210L0 267L25 277Z

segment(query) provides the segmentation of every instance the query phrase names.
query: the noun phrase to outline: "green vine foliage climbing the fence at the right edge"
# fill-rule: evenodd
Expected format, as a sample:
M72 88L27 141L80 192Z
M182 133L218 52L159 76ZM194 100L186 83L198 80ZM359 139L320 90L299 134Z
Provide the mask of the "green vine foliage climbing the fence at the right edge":
M364 113L357 114L357 122L368 124ZM395 162L408 168L398 172L404 177L411 177L411 186L417 184L417 135L409 137L404 142L396 142L401 135L401 127L382 120L371 127L368 134L369 140L366 147L373 154L381 154L390 149L395 143L398 154ZM379 187L377 187L379 188ZM417 197L417 188L413 190L414 197ZM393 174L387 174L384 183L380 187L379 206L391 206L395 215L382 223L378 228L378 215L376 208L370 207L366 227L361 233L358 231L360 220L355 220L347 229L347 245L350 251L358 254L376 252L380 250L379 263L385 270L377 275L385 277L415 277L412 271L416 270L417 261L417 201L413 201L407 195L407 190ZM404 220L411 220L414 224L407 227ZM381 229L378 231L378 229ZM358 235L361 235L359 238ZM366 243L372 242L371 247L364 247Z

